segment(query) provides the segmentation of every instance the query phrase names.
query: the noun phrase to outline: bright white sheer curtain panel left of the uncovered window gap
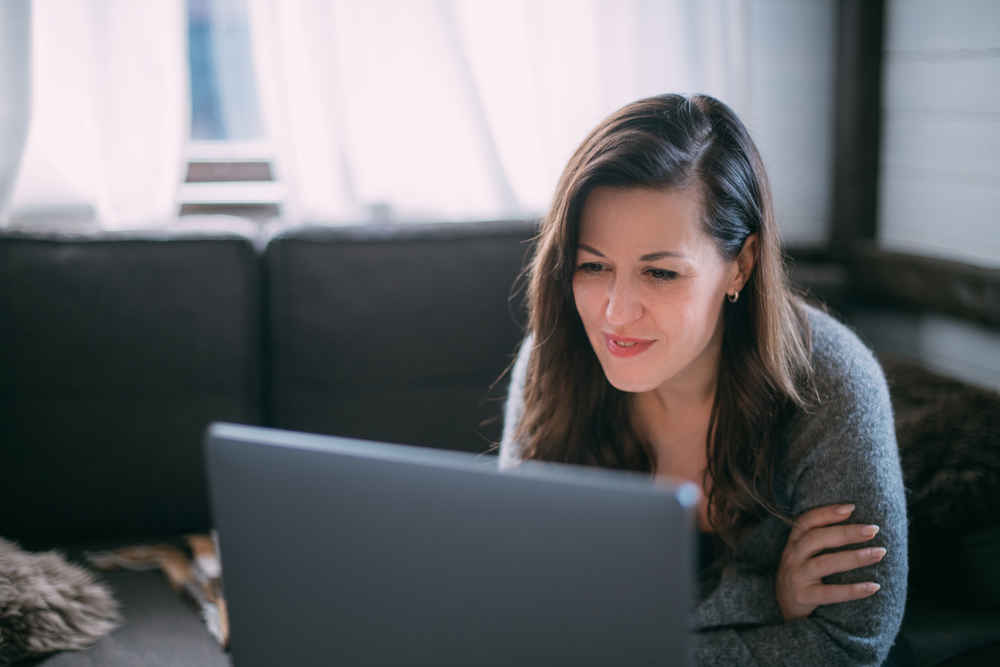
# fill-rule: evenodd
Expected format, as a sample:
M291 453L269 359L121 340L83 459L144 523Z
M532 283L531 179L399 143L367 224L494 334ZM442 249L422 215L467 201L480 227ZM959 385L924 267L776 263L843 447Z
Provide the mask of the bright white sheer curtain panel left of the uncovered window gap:
M184 0L35 0L31 126L13 225L122 228L176 215L190 105Z

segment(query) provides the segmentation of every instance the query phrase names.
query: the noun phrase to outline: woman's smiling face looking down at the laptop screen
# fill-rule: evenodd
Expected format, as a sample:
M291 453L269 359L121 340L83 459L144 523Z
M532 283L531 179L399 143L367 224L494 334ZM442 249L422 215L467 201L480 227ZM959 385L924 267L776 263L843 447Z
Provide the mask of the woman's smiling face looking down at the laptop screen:
M587 197L573 297L614 387L714 386L724 299L743 282L702 230L695 189L597 187Z

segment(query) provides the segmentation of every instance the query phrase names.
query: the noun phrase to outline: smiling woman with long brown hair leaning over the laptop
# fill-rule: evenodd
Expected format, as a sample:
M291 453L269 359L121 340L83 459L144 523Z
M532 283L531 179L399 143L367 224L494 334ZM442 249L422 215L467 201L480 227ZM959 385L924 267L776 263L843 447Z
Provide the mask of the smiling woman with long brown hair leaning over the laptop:
M907 575L885 378L788 287L736 115L663 95L591 132L541 224L528 305L501 466L701 486L698 664L880 664Z

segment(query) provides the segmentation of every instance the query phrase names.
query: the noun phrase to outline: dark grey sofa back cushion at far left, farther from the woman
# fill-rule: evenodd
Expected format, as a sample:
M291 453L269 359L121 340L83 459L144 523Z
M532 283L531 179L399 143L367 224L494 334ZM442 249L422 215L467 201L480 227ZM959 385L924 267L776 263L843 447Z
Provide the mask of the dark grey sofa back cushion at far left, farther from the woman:
M232 234L0 236L0 531L210 525L201 438L260 423L260 262Z

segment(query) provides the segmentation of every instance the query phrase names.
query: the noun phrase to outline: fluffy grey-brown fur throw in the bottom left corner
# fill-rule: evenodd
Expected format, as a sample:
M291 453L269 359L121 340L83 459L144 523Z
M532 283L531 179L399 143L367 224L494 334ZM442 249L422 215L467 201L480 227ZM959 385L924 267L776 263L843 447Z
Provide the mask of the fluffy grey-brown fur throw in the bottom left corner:
M0 666L85 648L120 622L118 603L89 572L0 539Z

